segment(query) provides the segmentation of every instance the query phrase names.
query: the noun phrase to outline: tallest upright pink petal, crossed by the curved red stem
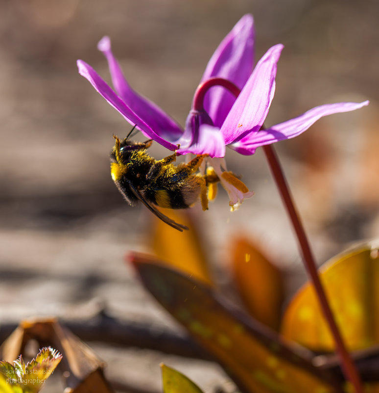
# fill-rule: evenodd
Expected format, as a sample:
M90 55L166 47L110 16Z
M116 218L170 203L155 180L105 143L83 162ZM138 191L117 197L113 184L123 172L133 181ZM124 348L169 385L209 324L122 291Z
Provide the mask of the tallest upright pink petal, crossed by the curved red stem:
M242 89L253 69L254 37L253 16L247 14L213 53L201 81L220 77L230 80ZM222 87L213 87L206 94L204 108L215 126L221 127L235 100L236 98Z

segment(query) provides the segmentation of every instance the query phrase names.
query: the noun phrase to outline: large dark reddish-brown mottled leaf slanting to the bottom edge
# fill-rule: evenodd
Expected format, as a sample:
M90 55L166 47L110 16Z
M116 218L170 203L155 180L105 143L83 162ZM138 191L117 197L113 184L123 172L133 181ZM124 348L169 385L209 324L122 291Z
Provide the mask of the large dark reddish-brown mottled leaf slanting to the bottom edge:
M314 367L270 329L226 306L212 288L140 254L130 256L144 286L211 353L241 392L341 392L332 376Z

